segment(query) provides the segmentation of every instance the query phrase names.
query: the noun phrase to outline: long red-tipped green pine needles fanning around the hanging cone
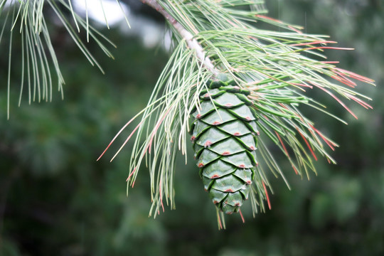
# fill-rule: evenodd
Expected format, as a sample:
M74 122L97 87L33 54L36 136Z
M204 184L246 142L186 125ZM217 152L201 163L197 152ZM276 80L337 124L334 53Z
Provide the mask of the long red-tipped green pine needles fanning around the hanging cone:
M257 154L263 159L256 169L250 193L254 214L258 209L265 210L263 201L270 207L266 169L276 177L282 176L289 186L270 151L273 144L299 176L310 178L311 172L316 174L314 161L319 156L335 163L328 151L338 145L316 129L299 107L311 107L344 122L329 113L324 104L306 95L308 90L318 90L333 97L354 117L343 100L354 100L371 108L364 101L370 99L354 90L356 82L352 80L368 84L373 84L373 80L336 68L333 62L317 60L326 58L324 49L327 48L351 49L331 47L329 44L335 42L328 41L328 36L302 33L298 26L264 16L266 10L261 1L164 0L156 4L194 35L215 69L227 73L240 87L251 92L249 98L261 130ZM287 31L267 31L258 28L260 22ZM200 107L198 95L206 89L206 80L215 77L194 50L188 48L180 30L170 25L176 47L148 107L141 113L141 122L122 145L136 135L127 181L130 186L134 185L145 161L151 174L149 215L155 217L164 211L165 203L174 208L176 153L181 151L187 161L186 146L191 146L186 139L190 114L194 107ZM223 228L222 213L218 213L218 225Z

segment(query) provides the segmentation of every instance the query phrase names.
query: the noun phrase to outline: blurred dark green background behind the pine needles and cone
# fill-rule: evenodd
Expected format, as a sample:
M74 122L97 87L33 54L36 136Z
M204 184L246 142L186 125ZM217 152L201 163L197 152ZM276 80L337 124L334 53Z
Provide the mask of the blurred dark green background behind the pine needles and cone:
M96 46L105 75L70 40L58 45L65 99L28 105L27 97L6 120L7 46L0 48L0 255L384 255L384 4L381 0L268 0L270 16L331 35L338 46L329 60L366 75L362 85L374 110L349 105L353 119L329 97L321 98L348 121L307 112L316 126L341 145L338 165L316 163L318 176L301 180L280 159L292 186L271 176L272 210L252 218L226 218L218 231L215 209L189 161L178 163L176 210L148 218L145 168L126 197L129 146L110 164L119 142L95 161L122 125L146 105L167 60L139 38L105 31L117 44L116 60ZM143 11L150 15L147 11ZM55 36L63 41L63 33ZM55 40L55 38L53 38ZM17 64L16 64L17 65ZM17 75L17 71L15 71ZM14 99L18 80L13 81ZM191 156L191 154L190 154Z

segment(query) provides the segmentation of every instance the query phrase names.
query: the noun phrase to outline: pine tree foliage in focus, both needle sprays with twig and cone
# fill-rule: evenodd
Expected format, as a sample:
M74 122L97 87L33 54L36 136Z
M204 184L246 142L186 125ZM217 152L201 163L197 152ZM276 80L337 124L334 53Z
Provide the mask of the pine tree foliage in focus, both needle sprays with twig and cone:
M356 92L353 80L368 84L373 80L325 60L325 49L350 48L329 46L336 42L328 36L303 33L299 26L266 16L262 1L142 2L166 18L172 32L172 53L147 107L129 120L112 142L141 118L114 157L135 135L127 182L133 186L145 161L151 174L150 215L164 210L164 198L174 208L175 159L181 151L187 161L188 146L193 146L203 187L217 206L220 228L223 213L241 214L240 206L248 197L254 213L265 210L264 201L270 206L266 171L284 178L271 149L279 149L299 176L309 178L311 171L316 173L314 160L318 156L335 164L328 151L338 145L316 129L301 110L309 107L346 122L327 112L326 105L306 95L307 91L328 94L353 117L356 115L343 100L371 108L365 102L370 99ZM71 1L0 1L0 16L5 15L0 43L4 31L10 38L8 80L13 68L12 38L17 32L23 53L21 92L24 83L28 84L30 102L52 97L50 64L58 78L58 90L63 92L64 79L50 41L45 5L92 65L101 69L80 40L76 32L80 27L87 40L93 38L112 57L102 41L111 42L73 11ZM265 24L273 29L265 29Z

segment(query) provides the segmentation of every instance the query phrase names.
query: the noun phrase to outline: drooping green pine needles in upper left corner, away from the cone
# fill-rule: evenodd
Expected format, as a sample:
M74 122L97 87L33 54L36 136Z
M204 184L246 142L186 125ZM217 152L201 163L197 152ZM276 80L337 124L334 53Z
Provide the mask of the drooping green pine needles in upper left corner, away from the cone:
M51 9L63 23L63 26L67 29L71 38L73 38L73 41L75 41L92 65L97 65L102 71L101 65L97 63L97 60L95 60L92 53L87 50L87 46L81 41L80 36L78 36L80 28L86 31L87 41L89 41L89 38L92 38L107 56L113 58L112 53L110 53L103 41L113 47L116 46L99 31L90 26L87 17L84 21L83 18L76 14L70 0L1 0L0 19L2 26L0 46L5 45L6 42L1 39L4 38L6 33L9 33L8 95L11 90L11 68L16 68L12 65L12 38L21 36L21 87L18 99L19 106L21 105L25 83L28 85L29 104L31 104L32 101L51 101L53 97L53 79L55 78L57 78L58 92L60 92L61 97L63 97L63 85L65 82L60 71L58 59L55 55L55 49L50 39L51 31L48 29L49 21L47 21L45 17L46 9L48 8ZM68 20L69 17L63 13L63 9L70 11L74 24ZM73 28L74 26L76 29ZM8 118L11 100L8 96Z

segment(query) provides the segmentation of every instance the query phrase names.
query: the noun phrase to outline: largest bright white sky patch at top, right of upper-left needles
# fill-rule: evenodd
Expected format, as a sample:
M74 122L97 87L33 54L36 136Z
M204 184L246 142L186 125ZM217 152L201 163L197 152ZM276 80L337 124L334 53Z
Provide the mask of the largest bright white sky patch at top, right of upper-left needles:
M120 3L120 7L115 0L72 0L72 4L73 7L84 14L84 16L86 11L88 11L88 16L99 23L106 24L106 17L108 25L110 26L115 26L118 23L125 21L124 14L129 18L129 6Z

